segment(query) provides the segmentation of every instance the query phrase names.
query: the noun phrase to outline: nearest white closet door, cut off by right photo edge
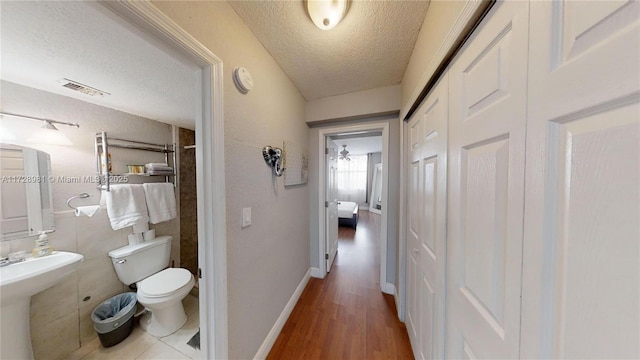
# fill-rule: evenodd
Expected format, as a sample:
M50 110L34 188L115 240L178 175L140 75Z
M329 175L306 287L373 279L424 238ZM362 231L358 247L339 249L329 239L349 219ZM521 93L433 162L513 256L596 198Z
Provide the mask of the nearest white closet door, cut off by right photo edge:
M639 14L531 3L523 357L640 358Z

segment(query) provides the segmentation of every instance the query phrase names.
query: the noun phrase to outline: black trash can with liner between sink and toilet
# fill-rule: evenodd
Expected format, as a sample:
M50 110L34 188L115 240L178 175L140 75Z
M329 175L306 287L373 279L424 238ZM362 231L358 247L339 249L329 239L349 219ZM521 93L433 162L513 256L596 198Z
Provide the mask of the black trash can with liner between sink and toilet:
M102 346L116 345L131 334L136 304L136 293L128 292L116 295L93 309L93 329L98 333Z

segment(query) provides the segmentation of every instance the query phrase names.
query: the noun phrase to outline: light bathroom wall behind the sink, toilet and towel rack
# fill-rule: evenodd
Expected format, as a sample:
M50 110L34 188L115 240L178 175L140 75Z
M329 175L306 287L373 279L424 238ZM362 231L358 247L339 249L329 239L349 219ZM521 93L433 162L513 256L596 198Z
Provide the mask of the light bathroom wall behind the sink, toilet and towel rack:
M50 154L52 175L56 178L95 175L94 139L98 131L139 141L173 142L171 126L167 124L13 83L2 82L1 87L3 111L80 124L80 128L57 126L73 146L47 146L24 143L29 133L42 125L41 122L2 119L2 127L17 136L12 143ZM163 155L150 152L122 149L110 152L116 172L124 172L127 164L163 160ZM31 333L36 359L66 359L81 345L95 339L91 311L100 302L127 291L118 280L107 253L127 244L131 228L112 230L104 210L92 218L74 216L67 207L67 199L86 192L91 197L78 199L74 205L97 204L100 191L95 183L56 181L52 189L56 231L49 236L50 245L55 250L78 252L84 255L84 261L77 272L31 300ZM179 220L158 224L155 229L158 234L173 236L171 257L179 266ZM3 241L0 252L3 256L20 250L31 252L33 241L33 237ZM90 299L85 301L86 297Z

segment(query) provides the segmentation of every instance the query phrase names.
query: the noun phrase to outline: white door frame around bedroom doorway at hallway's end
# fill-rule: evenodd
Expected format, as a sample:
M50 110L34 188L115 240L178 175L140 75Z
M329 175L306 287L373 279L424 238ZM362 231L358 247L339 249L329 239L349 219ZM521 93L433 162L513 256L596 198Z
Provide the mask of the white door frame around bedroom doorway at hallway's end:
M382 202L387 206L382 207L382 218L380 226L380 289L386 294L394 293L394 285L387 283L387 228L388 228L388 204L389 204L389 123L370 122L358 125L343 125L321 128L318 130L318 264L319 277L324 279L327 275L327 263L325 261L326 253L326 232L327 226L326 211L324 202L326 198L326 159L324 149L326 146L326 138L332 135L342 133L360 132L360 131L382 131Z

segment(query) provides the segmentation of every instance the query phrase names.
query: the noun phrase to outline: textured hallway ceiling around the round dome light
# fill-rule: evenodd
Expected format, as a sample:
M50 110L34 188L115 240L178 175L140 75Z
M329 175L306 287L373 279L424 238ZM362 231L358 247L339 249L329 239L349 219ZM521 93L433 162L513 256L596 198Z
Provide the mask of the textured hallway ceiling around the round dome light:
M399 84L428 7L352 1L342 22L324 31L302 0L230 4L307 100Z

